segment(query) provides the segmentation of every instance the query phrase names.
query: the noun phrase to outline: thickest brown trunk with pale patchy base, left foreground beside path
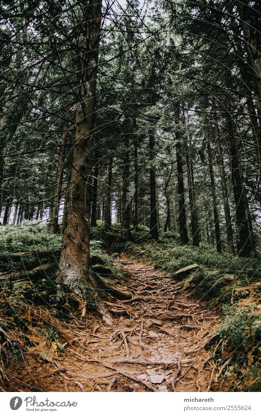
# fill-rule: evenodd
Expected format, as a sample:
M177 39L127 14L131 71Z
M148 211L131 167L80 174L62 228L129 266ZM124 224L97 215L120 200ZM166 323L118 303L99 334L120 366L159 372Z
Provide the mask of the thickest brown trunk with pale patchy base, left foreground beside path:
M99 298L98 283L90 272L90 199L93 122L102 1L84 3L87 23L86 53L81 61L81 85L76 107L76 130L72 150L71 199L59 262L58 280L85 299L85 308L95 308L112 322Z

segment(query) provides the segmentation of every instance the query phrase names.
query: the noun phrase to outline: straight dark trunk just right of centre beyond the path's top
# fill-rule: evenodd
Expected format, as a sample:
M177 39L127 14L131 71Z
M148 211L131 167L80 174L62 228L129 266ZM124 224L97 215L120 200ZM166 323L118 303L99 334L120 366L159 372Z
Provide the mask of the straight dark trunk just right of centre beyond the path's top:
M149 131L149 179L150 179L150 221L149 221L149 232L155 241L159 240L158 232L158 219L157 219L157 192L156 192L156 173L154 170L155 160L155 133L151 129Z

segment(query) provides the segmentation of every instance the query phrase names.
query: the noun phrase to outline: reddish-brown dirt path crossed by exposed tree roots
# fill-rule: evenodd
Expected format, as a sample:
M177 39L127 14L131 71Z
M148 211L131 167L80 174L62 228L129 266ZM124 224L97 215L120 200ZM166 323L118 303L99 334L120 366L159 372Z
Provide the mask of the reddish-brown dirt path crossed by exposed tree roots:
M46 376L50 391L206 392L215 369L203 348L218 321L173 279L126 257L122 287L133 299L107 303L115 324L93 317L73 330L74 345L66 348L58 368Z

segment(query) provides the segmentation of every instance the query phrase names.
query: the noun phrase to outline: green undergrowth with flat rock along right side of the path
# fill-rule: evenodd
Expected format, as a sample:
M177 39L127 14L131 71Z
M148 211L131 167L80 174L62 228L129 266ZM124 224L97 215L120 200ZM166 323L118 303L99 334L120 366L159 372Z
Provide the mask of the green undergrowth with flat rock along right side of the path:
M102 224L93 230L111 252L121 252L153 265L173 276L178 269L199 265L193 273L184 275L181 284L211 308L218 308L223 320L208 347L215 351L214 363L219 368L227 391L260 391L260 266L261 259L218 254L214 247L179 245L174 233L160 232L158 243L151 240L148 228L132 231L131 243L120 240L119 225L108 232ZM243 304L243 306L242 306ZM220 389L220 385L216 385ZM221 388L222 390L222 388Z

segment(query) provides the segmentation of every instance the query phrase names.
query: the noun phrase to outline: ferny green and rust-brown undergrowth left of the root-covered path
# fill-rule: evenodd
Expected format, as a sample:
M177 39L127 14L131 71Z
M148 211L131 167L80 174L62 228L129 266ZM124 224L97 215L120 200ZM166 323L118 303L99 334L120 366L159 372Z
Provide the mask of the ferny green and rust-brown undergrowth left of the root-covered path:
M16 389L19 366L20 387L37 391L37 380L23 384L23 367L34 367L39 359L48 362L63 354L64 342L71 343L70 326L80 317L83 300L56 280L61 243L62 236L50 235L47 224L0 227L0 381L5 391ZM99 241L91 242L90 251L111 267L114 256L106 254ZM120 272L113 272L120 279ZM53 304L64 291L66 302ZM30 348L38 352L30 356Z

